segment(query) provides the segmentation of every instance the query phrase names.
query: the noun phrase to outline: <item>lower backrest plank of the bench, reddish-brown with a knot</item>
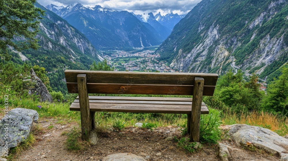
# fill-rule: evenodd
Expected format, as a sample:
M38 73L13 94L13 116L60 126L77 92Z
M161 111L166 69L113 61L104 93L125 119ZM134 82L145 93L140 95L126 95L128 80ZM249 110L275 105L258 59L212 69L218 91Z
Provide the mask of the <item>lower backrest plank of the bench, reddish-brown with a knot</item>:
M192 85L125 85L88 83L88 93L193 95ZM68 93L78 93L77 83L67 83ZM204 86L203 95L213 96L215 86Z

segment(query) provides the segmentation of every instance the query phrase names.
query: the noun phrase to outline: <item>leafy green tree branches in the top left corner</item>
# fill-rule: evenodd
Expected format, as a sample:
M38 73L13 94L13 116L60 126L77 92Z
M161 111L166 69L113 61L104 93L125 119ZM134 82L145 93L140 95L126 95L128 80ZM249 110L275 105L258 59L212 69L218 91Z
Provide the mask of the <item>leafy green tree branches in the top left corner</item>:
M39 19L45 11L34 6L36 0L1 0L0 1L0 56L9 60L8 48L17 51L38 49Z

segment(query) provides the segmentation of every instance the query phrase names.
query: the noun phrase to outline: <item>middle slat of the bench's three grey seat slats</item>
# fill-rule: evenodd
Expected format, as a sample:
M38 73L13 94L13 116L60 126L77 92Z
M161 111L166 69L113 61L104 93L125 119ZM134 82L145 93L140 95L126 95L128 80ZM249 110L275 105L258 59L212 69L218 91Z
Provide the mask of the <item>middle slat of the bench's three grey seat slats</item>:
M74 102L79 102L79 99L75 99ZM181 101L134 101L134 100L94 100L89 99L89 103L104 103L104 104L162 104L162 105L192 105L191 102L181 102ZM202 105L205 105L202 102Z

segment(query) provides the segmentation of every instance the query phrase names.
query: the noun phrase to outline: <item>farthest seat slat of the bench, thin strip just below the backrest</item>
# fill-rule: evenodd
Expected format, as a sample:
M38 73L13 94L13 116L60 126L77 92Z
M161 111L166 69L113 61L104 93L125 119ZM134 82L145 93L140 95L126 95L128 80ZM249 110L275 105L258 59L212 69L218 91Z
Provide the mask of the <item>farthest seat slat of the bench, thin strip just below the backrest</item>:
M79 99L77 96L76 99ZM182 101L192 102L192 98L182 97L118 97L118 96L89 96L89 100L123 100L123 101Z

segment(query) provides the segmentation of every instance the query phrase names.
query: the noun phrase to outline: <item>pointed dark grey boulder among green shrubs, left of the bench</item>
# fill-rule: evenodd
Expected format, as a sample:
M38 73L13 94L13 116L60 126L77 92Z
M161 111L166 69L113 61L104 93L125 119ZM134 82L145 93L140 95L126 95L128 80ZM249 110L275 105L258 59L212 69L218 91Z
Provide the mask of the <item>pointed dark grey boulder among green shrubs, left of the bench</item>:
M41 81L41 79L36 76L33 69L30 70L30 74L31 74L31 81L35 83L34 88L30 89L31 93L37 93L37 95L40 96L41 102L45 101L52 102L53 99L50 93L48 92L48 89Z

